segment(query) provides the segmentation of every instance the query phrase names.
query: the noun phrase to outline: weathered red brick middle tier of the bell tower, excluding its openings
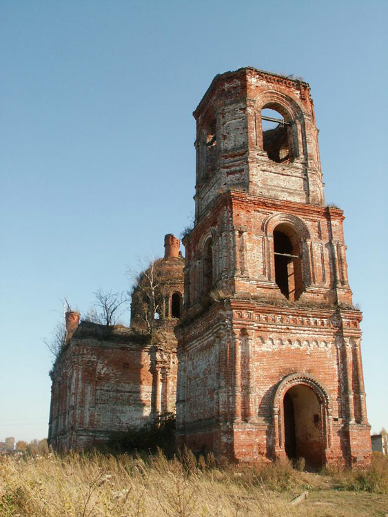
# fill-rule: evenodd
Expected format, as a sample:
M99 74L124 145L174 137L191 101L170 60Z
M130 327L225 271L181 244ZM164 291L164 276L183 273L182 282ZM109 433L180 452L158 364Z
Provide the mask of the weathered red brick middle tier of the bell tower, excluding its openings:
M204 292L203 246L213 241L214 287L234 294L285 301L275 283L274 230L294 227L300 236L303 294L300 303L351 306L347 278L343 212L333 207L269 201L243 192L227 192L190 234L186 245L186 310Z

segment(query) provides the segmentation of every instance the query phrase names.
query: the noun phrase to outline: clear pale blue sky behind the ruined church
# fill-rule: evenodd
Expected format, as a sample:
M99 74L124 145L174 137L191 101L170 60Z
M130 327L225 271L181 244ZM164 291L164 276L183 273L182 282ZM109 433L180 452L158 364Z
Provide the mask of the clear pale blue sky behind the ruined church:
M64 296L86 312L97 287L129 288L190 224L192 111L243 66L312 86L369 421L388 427L387 18L385 0L0 1L0 440L47 436Z

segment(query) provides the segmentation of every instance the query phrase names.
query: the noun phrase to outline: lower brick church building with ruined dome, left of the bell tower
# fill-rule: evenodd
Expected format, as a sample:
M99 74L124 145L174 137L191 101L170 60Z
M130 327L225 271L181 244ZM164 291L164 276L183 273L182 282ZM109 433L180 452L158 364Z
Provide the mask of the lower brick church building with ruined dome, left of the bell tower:
M182 310L184 259L174 235L165 235L164 244L163 259L140 275L134 289L130 328L79 325L79 312L66 313L65 345L51 372L48 438L54 448L92 447L112 432L141 429L175 412L173 331ZM149 311L151 297L157 320Z

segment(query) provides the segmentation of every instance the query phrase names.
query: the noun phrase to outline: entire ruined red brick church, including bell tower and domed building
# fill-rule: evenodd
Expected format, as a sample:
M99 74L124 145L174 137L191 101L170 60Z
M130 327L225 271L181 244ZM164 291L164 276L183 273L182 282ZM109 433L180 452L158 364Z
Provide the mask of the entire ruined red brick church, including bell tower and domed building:
M270 112L269 112L270 110ZM269 114L268 114L269 113ZM269 116L270 115L270 116ZM88 447L176 408L176 442L237 462L371 453L343 212L325 206L309 85L241 68L194 111L194 228L165 236L158 320L79 323L52 370L50 443Z

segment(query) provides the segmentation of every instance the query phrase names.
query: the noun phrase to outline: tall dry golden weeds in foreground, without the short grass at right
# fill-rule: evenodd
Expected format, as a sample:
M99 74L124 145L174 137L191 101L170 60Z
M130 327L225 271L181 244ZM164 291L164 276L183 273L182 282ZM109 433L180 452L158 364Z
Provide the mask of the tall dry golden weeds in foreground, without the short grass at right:
M302 481L287 463L217 469L214 458L197 461L185 451L174 460L161 453L148 458L76 453L5 457L0 468L0 517L309 514L288 506L292 488L300 490ZM385 464L375 468L386 472Z

